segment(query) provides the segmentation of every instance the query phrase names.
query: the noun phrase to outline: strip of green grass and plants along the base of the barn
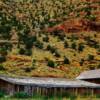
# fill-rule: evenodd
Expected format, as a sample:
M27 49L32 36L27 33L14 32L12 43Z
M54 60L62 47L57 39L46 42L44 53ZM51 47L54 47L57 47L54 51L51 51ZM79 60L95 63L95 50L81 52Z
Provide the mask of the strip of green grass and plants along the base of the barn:
M16 93L14 96L7 96L3 95L0 97L0 100L18 100L18 99L24 99L24 100L88 100L88 99L98 100L100 98L100 95L91 95L91 94L84 94L84 95L75 95L75 94L69 94L66 93L64 95L53 95L53 96L45 96L40 94L33 94L32 96L27 95L26 93Z

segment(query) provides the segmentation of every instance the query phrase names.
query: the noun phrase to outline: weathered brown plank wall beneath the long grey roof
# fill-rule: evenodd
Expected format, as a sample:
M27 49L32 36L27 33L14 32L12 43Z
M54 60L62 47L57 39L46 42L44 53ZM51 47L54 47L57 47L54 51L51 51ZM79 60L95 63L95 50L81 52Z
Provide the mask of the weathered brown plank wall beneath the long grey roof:
M38 87L29 85L13 85L3 80L0 80L0 90L4 90L7 94L13 95L16 92L27 92L30 95L41 94L46 96L52 95L68 95L68 94L100 94L100 88L60 88L60 87Z

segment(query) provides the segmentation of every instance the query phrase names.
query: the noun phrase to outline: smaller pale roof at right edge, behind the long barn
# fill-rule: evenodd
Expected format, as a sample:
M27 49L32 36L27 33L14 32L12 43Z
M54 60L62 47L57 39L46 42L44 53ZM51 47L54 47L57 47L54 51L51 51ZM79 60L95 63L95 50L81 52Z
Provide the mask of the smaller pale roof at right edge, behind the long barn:
M100 78L100 69L85 71L81 73L76 79L95 79Z

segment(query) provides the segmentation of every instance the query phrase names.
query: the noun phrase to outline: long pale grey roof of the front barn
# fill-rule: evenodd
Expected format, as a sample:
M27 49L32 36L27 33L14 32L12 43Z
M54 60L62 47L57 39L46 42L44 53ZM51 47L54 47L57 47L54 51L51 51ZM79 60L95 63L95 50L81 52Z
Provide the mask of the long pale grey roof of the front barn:
M39 78L39 77L33 77L33 78L14 78L14 77L8 77L8 76L0 76L1 80L4 80L6 82L12 83L12 84L18 84L18 85L32 85L32 86L40 86L40 87L100 87L98 84L81 81L81 80L68 80L64 78Z

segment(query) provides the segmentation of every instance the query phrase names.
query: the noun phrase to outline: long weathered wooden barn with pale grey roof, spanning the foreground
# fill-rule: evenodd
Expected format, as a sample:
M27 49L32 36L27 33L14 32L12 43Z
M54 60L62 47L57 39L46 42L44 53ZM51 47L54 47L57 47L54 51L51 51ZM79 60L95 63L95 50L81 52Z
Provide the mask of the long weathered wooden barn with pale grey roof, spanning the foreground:
M61 95L65 93L84 94L86 92L100 93L100 85L82 80L68 80L64 78L15 78L0 75L0 90L9 95L17 92L26 92L30 95Z

